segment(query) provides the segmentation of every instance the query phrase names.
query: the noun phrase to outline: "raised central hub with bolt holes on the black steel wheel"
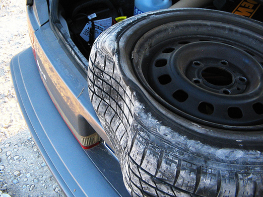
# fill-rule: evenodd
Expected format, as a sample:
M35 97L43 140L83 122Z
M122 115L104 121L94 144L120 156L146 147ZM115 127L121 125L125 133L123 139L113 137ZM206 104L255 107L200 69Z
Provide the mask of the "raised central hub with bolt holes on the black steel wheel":
M179 72L201 88L227 95L243 93L249 84L243 68L258 64L236 47L208 41L187 44L174 51L173 63L173 73ZM250 73L256 75L253 69Z

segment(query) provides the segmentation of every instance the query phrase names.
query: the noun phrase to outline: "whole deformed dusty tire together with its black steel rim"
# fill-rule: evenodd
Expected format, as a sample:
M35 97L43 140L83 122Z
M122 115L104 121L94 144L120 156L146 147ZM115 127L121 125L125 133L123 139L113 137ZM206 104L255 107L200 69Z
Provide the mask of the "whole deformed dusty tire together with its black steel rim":
M263 26L163 10L105 31L94 109L132 196L263 196Z

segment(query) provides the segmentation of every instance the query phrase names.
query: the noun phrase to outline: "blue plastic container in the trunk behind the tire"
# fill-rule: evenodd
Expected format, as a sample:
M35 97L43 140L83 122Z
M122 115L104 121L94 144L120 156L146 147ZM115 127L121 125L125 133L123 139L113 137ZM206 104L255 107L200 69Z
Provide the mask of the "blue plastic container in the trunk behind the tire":
M134 15L172 6L172 0L135 0Z

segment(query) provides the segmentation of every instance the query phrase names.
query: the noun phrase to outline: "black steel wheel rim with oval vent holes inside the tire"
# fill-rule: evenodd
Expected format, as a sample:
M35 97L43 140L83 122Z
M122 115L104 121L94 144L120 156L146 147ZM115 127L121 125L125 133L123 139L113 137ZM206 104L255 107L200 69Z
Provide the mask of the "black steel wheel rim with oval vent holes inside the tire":
M171 111L210 126L260 130L262 46L262 36L249 27L209 17L178 21L139 39L133 65L144 87Z

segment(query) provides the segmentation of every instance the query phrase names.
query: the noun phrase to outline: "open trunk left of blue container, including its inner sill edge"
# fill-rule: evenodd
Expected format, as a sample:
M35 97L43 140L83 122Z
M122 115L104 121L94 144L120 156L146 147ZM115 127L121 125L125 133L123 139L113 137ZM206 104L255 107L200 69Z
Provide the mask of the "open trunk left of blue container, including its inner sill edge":
M97 34L104 31L107 27L114 25L114 23L116 23L116 17L133 16L134 1L80 0L72 3L68 0L55 0L53 2L53 8L51 16L56 32L62 37L62 40L67 43L68 48L72 51L74 57L80 62L82 69L86 71L90 49ZM91 20L88 19L88 16L95 13L95 18ZM97 29L98 21L103 23L103 30ZM95 24L93 24L94 22ZM95 32L95 35L91 35L91 32L88 32L90 35L84 38L84 28L88 23L90 23L90 27L92 26L91 31L95 30L99 32ZM99 23L99 25L101 25L101 23ZM96 29L93 25L96 26ZM87 41L89 37L91 38Z

